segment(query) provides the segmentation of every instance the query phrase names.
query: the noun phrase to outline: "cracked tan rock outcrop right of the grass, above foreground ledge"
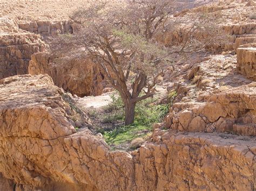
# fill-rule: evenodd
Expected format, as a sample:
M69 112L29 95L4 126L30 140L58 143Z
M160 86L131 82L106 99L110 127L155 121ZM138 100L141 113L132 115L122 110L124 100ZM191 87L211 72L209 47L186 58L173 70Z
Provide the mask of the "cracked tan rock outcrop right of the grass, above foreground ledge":
M170 114L178 112L172 118L171 129L256 136L256 89L251 84L208 94L200 99L203 102L174 103Z

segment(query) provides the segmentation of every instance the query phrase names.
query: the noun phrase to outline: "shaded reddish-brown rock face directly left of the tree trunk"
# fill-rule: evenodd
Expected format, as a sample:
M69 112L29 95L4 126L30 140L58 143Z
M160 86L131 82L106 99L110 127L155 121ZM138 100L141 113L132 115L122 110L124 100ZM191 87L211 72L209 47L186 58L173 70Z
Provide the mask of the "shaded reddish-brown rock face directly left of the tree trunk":
M56 86L77 96L100 95L106 87L104 75L89 58L55 59L49 53L36 53L29 62L29 74L48 74Z

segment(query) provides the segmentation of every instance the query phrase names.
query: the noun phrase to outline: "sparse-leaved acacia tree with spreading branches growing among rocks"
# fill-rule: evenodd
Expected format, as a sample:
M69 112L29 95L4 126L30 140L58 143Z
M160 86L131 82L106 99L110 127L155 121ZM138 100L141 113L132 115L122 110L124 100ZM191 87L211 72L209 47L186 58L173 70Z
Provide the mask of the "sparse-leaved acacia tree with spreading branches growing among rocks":
M125 105L125 125L129 125L134 122L136 103L153 96L169 56L191 49L192 39L170 51L154 38L169 26L170 13L176 9L174 1L104 0L88 5L73 13L75 33L58 37L59 48L66 45L90 56L119 91Z

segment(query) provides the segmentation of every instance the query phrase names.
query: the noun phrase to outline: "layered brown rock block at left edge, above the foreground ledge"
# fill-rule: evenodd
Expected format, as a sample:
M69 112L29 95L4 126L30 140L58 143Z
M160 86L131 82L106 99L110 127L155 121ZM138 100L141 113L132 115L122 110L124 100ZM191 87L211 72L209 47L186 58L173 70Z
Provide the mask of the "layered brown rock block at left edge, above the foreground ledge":
M28 74L31 55L43 51L39 36L31 33L0 35L0 79Z

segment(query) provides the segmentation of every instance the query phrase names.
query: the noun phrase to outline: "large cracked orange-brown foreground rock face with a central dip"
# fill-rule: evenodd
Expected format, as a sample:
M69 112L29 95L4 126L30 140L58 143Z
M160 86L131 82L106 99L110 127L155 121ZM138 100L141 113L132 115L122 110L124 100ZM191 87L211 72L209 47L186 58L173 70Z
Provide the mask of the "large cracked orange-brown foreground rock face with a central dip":
M254 137L156 129L138 151L110 151L85 126L76 132L48 75L9 77L0 87L0 172L16 190L256 187Z

